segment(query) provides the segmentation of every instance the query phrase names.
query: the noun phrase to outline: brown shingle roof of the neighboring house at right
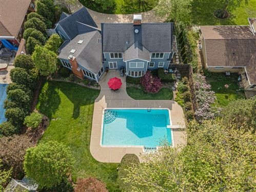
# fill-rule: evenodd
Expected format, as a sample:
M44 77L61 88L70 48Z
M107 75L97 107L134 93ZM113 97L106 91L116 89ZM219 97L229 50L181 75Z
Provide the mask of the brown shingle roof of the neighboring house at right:
M246 67L250 83L256 84L256 37L248 26L200 26L200 29L205 38L208 67Z

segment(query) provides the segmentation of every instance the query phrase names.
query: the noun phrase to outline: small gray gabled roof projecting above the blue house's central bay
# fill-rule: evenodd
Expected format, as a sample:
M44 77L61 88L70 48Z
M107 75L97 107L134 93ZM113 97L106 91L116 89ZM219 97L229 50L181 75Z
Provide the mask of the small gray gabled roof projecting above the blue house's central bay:
M136 41L124 52L124 61L136 58L150 61L149 51L145 47L143 47L143 45L141 45L138 41Z

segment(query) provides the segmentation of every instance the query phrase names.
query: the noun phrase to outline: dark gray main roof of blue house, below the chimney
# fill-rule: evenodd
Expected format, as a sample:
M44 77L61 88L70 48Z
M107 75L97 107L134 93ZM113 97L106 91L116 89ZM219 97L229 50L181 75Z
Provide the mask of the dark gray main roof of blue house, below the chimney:
M172 50L172 23L102 24L101 29L103 52L125 52L136 41L151 53Z

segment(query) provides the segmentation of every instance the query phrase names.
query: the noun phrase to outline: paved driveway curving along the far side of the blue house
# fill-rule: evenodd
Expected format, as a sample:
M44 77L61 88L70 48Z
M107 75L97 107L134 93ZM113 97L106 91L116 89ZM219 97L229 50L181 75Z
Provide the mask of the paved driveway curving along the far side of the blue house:
M77 2L75 5L71 6L72 13L78 9L82 8L82 4ZM94 22L97 26L101 29L102 23L132 23L133 22L133 14L106 14L106 13L99 13L87 8L90 15L92 16ZM160 17L155 13L155 10L152 9L147 12L143 13L136 13L142 14L142 22L143 23L159 23L164 22L165 18Z

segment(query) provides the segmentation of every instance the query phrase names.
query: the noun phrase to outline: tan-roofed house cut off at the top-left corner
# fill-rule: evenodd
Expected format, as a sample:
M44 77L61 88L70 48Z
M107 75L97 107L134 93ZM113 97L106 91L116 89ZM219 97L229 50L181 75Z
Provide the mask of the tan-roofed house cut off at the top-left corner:
M7 40L19 46L24 32L26 15L34 11L35 4L31 0L0 1L0 41Z

